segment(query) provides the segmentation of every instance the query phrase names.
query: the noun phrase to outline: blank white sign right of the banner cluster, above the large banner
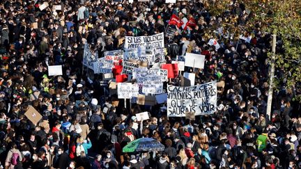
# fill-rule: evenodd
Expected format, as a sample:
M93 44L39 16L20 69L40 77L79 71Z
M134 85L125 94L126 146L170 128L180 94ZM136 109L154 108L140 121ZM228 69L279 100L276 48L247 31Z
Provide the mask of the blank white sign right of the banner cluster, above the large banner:
M186 53L185 66L203 69L205 63L205 55Z

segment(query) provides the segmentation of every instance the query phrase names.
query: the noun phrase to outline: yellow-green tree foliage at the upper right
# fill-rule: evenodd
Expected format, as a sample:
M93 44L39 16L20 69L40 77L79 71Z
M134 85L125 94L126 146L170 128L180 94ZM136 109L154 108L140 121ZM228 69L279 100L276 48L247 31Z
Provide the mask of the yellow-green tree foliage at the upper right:
M213 15L225 16L227 10L235 10L233 1L208 0L209 12ZM240 0L245 11L242 19L224 17L223 27L231 30L233 38L242 33L252 35L261 31L277 35L276 71L283 71L284 77L276 81L277 88L291 88L301 83L301 1L300 0ZM215 8L216 6L216 8ZM238 23L240 22L240 23ZM272 42L272 40L271 40ZM271 45L272 46L272 45ZM270 56L269 52L269 56ZM299 85L298 85L299 84ZM300 92L301 93L301 92ZM296 96L296 98L301 98Z

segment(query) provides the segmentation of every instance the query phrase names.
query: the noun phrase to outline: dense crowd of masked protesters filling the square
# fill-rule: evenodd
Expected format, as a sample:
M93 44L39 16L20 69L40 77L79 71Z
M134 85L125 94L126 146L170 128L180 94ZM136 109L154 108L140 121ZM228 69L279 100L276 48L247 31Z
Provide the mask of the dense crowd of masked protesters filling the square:
M228 19L244 26L252 13L243 3L231 1L229 10L213 16L207 0L47 2L43 10L40 0L0 2L1 168L301 167L300 107L293 100L299 86L275 91L272 117L266 115L270 34L255 26L245 40L236 40L223 28ZM173 14L193 17L196 26L168 25ZM206 56L203 70L185 72L195 73L196 84L218 81L215 113L187 120L167 118L166 103L113 106L114 95L100 86L102 75L83 71L84 44L102 57L123 49L125 35L165 33L168 27L177 31L164 38L166 63L186 52ZM209 29L215 37L208 37ZM220 48L208 45L209 38ZM63 65L63 75L47 76L48 65ZM283 71L275 72L279 79L285 79ZM167 83L183 81L179 74ZM43 116L37 124L24 115L30 106ZM135 114L143 111L150 119L139 122ZM142 137L160 141L165 150L122 151Z

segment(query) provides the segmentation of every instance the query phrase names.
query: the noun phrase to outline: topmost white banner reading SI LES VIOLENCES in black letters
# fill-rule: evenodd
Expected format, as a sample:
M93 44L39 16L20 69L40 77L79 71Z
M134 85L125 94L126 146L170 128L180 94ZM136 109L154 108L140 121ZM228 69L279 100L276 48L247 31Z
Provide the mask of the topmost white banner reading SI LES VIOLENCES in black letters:
M164 33L150 36L125 36L124 49L134 49L144 46L146 49L164 48Z

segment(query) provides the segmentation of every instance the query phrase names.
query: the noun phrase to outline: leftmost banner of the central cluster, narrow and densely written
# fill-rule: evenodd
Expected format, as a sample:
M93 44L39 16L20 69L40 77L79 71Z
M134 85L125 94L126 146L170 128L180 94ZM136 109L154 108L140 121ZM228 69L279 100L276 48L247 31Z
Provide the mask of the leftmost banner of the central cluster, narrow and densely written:
M88 43L84 45L83 65L93 70L93 63L98 61L98 51L91 51Z

